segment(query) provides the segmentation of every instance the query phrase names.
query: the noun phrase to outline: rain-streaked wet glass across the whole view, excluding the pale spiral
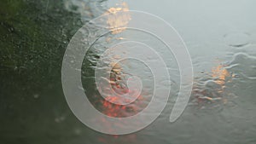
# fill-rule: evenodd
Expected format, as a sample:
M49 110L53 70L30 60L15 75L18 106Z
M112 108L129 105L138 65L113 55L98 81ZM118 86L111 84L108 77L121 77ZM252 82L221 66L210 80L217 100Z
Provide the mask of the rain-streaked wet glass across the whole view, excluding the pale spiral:
M254 144L254 5L253 0L1 1L1 143ZM175 56L143 32L120 29L98 37L84 57L81 79L88 99L102 113L120 118L135 115L147 106L153 91L150 69L135 60L122 60L113 66L109 83L117 93L125 94L124 81L129 73L137 73L144 80L143 96L139 97L142 101L119 107L98 96L96 62L113 43L130 37L159 49L172 79L172 96L153 124L130 135L104 135L82 124L68 107L61 86L61 63L67 44L80 27L97 16L124 9L156 14L177 30L191 56L194 84L183 115L170 123L180 83ZM120 22L132 19L123 18ZM119 55L115 58L119 59Z

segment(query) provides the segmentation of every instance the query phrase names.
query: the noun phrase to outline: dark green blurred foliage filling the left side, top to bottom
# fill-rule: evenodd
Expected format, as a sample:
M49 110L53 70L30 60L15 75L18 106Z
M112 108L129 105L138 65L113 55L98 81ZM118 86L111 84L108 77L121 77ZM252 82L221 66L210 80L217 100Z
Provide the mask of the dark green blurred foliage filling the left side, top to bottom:
M56 125L55 118L71 113L62 95L61 62L82 25L62 1L0 1L1 143L54 143L52 137L63 143L73 135L60 133L73 127Z

